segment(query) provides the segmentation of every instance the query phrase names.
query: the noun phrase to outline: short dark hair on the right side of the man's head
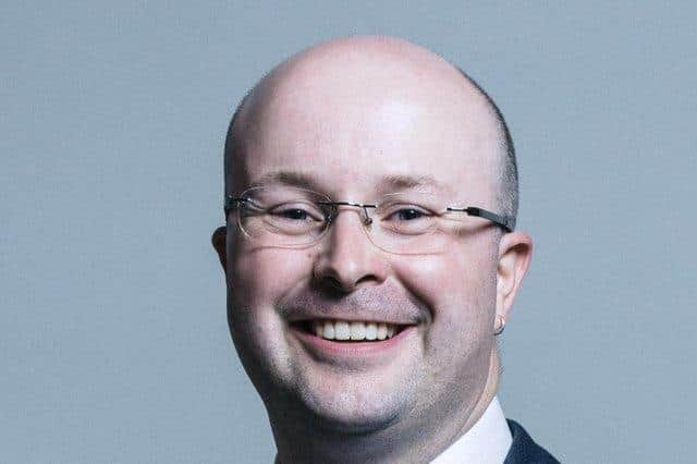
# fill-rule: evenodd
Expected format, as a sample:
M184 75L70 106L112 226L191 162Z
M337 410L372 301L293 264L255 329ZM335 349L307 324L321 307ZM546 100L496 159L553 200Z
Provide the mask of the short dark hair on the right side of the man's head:
M453 64L454 65L454 64ZM493 101L493 98L487 94L487 91L475 81L472 76L465 73L460 66L454 65L455 69L463 75L463 77L472 84L479 94L487 100L499 124L499 131L501 134L501 147L502 155L500 157L500 186L497 193L497 203L500 212L512 218L511 228L515 229L515 223L518 215L518 167L515 159L515 147L513 145L513 137L509 125L503 118L503 113Z

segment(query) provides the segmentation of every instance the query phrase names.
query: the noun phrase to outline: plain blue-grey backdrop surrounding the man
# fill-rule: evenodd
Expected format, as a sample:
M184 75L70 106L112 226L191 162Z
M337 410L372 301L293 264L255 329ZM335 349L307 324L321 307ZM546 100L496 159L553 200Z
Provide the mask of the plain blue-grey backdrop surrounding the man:
M244 91L353 33L500 103L536 254L501 402L575 463L697 462L694 3L2 2L0 461L270 462L209 234Z

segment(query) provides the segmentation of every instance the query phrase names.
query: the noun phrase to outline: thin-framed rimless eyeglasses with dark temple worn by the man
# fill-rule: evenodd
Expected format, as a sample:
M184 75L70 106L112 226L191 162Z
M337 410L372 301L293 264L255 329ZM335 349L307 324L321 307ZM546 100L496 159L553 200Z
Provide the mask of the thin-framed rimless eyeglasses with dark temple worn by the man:
M237 225L253 242L266 246L299 248L320 241L341 212L357 208L364 231L374 245L394 254L443 252L464 212L513 230L513 218L482 208L442 207L436 195L392 193L376 204L333 202L327 195L292 186L252 187L225 198L225 217L237 210Z

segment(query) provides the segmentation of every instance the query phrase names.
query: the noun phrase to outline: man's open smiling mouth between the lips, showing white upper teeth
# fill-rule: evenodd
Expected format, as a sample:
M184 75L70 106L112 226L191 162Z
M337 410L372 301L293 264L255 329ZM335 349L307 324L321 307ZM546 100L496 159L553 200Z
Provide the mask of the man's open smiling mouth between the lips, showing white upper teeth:
M409 326L341 319L301 320L291 325L303 332L332 342L380 342L389 340Z

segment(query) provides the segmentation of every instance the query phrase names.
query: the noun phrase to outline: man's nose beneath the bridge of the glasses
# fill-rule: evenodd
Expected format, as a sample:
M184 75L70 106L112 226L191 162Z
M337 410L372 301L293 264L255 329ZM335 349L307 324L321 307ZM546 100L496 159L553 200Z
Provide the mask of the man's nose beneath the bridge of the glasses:
M342 207L332 221L314 267L320 286L348 293L360 285L380 284L388 273L384 253L367 236L363 211Z

